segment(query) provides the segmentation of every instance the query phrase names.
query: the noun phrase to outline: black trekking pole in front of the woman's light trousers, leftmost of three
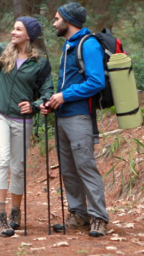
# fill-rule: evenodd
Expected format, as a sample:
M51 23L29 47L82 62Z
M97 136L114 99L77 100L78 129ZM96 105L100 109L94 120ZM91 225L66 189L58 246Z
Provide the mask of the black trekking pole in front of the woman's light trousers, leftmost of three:
M27 101L25 98L22 101ZM24 236L27 236L27 203L26 203L26 114L23 114L23 171L24 171L24 209L25 209L25 225L24 225Z

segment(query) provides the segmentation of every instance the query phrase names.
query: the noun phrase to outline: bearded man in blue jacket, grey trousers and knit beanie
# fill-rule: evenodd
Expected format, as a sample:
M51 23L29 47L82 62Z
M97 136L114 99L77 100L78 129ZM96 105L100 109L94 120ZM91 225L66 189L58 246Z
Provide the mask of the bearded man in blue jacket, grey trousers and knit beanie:
M103 182L93 154L92 120L88 97L105 86L103 50L94 37L83 44L85 77L79 73L76 49L80 39L91 32L82 28L86 10L79 3L69 3L57 9L55 22L58 37L65 37L59 67L57 94L47 107L57 109L62 176L70 215L65 228L77 228L91 223L90 236L106 235L109 216L105 206ZM50 110L41 106L43 115ZM87 199L87 202L86 202ZM88 206L87 206L88 204ZM53 226L56 232L63 225Z

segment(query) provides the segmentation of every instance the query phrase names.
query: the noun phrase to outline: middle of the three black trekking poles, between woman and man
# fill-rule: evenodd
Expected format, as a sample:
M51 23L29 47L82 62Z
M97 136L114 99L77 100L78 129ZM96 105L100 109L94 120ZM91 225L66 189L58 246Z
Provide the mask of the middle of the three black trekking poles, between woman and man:
M47 99L44 98L44 106ZM45 106L46 108L46 106ZM49 181L49 154L48 154L48 137L47 137L47 114L45 115L45 148L46 148L46 177L47 177L47 203L48 203L48 219L49 219L49 232L51 235L51 224L50 224L50 181Z

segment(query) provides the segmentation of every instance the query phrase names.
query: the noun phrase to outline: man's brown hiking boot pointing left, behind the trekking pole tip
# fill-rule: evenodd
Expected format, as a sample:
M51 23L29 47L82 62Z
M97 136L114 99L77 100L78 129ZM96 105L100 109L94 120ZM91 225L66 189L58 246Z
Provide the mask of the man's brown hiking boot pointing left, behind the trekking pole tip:
M80 226L87 226L89 225L88 222L85 222L79 214L77 213L70 213L66 222L65 222L65 229L71 229L71 228L79 228ZM63 231L63 224L56 224L53 225L53 230L56 232L62 232Z

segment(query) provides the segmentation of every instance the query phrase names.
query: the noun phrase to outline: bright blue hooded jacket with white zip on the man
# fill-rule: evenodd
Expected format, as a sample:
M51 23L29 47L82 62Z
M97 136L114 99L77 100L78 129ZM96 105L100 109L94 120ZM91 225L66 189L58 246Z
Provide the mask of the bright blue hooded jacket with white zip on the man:
M77 45L85 34L90 33L88 28L82 28L65 40L62 47L57 92L63 92L64 103L59 106L59 117L89 114L88 97L105 87L104 52L96 38L90 37L83 44L85 76L79 73L77 66Z

